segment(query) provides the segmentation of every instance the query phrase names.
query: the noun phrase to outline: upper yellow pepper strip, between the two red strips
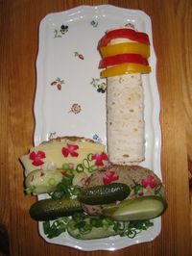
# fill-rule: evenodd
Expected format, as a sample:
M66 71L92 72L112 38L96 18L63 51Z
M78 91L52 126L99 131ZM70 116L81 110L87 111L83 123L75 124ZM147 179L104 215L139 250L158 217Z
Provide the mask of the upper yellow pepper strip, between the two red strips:
M149 58L150 45L141 42L122 42L103 46L100 48L100 52L103 58L125 53L140 54L143 58Z

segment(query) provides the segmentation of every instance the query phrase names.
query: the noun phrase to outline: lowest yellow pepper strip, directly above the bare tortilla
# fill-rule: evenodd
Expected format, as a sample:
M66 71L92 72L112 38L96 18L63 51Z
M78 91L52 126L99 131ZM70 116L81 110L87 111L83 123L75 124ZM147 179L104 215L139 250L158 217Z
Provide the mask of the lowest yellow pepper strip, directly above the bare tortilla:
M100 74L102 78L125 75L132 73L150 73L151 67L146 64L117 64L112 67L108 67Z

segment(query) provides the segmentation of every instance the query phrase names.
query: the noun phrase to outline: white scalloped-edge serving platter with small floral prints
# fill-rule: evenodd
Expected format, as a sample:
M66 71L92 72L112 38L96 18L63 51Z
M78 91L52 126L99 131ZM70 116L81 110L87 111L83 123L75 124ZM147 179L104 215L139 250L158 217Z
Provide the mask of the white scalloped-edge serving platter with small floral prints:
M83 136L107 144L106 81L100 78L100 54L97 44L108 29L132 23L147 33L151 42L152 72L142 75L144 88L145 161L142 166L155 170L161 178L159 97L156 85L156 54L150 17L141 11L113 6L80 6L46 15L39 25L39 48L36 59L35 145L60 136ZM125 106L126 107L126 106ZM46 198L38 195L38 199ZM42 222L40 236L80 250L116 250L136 243L150 242L161 229L161 218L154 226L133 239L110 237L81 241L67 233L47 239Z

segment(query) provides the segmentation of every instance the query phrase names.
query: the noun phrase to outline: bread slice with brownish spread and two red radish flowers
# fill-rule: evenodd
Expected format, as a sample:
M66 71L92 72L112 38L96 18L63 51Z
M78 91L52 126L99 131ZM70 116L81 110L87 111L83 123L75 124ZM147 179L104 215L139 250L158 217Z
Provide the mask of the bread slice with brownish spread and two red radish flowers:
M109 183L123 183L130 187L131 192L126 199L142 196L159 196L165 200L164 186L153 170L143 166L108 165L95 171L86 181L86 188ZM103 215L102 205L83 204L84 211L89 215Z

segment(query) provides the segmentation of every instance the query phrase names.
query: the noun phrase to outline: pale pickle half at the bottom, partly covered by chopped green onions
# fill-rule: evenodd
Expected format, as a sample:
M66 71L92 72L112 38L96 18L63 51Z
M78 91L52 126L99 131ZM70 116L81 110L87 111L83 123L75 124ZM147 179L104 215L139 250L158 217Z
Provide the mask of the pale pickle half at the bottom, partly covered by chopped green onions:
M90 218L84 218L84 231L76 227L77 222L69 220L67 224L67 231L73 238L80 240L102 239L110 236L115 236L118 233L114 231L113 225L104 227L94 227L90 223Z

